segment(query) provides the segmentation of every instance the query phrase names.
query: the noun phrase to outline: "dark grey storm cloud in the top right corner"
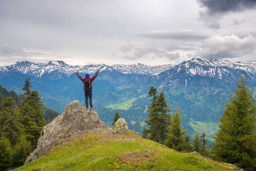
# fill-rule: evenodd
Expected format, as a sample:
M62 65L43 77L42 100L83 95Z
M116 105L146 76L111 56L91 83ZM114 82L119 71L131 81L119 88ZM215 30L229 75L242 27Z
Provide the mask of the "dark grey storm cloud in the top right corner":
M246 10L254 9L256 7L255 0L197 0L200 7L205 11L200 11L200 20L206 26L218 29L220 23L218 22L224 15L229 13L238 13ZM242 22L235 22L240 24Z

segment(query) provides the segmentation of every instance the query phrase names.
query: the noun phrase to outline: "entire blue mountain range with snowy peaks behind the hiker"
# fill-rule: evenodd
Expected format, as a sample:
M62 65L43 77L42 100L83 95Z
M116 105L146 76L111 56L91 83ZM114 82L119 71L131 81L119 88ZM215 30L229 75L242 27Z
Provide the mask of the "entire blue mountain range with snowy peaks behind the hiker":
M220 59L191 59L182 63L147 66L145 64L91 64L71 66L62 61L32 63L20 61L0 67L0 85L22 93L26 78L31 89L39 91L48 108L63 112L70 101L84 103L83 83L75 74L100 73L93 83L94 109L111 125L116 109L130 129L142 132L148 118L148 91L151 86L164 91L170 109L181 108L182 125L190 134L191 121L217 123L224 101L243 71L250 84L256 83L256 62L229 62ZM190 123L190 124L189 124Z

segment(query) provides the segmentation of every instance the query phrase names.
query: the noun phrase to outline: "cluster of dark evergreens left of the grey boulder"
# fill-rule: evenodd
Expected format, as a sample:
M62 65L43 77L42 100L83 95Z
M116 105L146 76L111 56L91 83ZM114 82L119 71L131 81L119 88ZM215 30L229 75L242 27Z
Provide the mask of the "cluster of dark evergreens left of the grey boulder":
M44 125L59 115L44 107L39 92L30 89L30 79L23 86L21 95L0 86L0 170L23 165Z

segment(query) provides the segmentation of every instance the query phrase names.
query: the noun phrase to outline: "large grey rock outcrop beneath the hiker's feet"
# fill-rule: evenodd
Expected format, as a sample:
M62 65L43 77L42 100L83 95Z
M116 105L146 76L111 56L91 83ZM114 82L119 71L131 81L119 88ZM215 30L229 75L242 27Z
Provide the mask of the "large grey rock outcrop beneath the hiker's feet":
M108 127L100 120L96 111L87 111L79 101L73 101L65 107L62 115L56 117L42 129L36 149L27 157L25 164L48 154L52 148L60 145L63 141L72 140L74 137L84 133L132 132L139 136L139 133L128 130L124 119L120 119L117 124L113 128L118 129L113 131L113 128Z

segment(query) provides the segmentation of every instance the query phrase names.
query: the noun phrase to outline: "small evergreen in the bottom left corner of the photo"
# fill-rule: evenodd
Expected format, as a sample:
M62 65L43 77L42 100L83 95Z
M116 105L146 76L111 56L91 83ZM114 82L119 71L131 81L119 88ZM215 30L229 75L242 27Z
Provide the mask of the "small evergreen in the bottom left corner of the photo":
M0 139L0 170L7 170L13 164L11 143L8 139Z

